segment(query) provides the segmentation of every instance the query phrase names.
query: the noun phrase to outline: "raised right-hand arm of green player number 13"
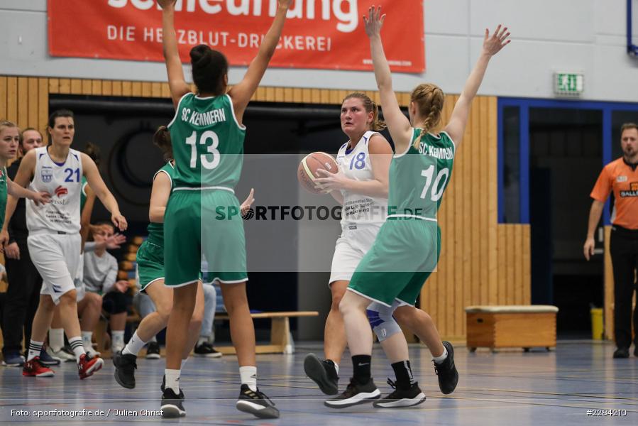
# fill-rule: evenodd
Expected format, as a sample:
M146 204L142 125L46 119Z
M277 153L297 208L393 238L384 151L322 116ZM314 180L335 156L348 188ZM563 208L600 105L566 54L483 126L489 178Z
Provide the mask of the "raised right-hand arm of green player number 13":
M273 24L270 26L268 33L266 33L259 46L257 56L253 59L251 65L248 66L243 80L235 84L229 91L229 95L231 99L233 99L233 109L235 110L235 116L239 124L242 122L243 112L246 111L248 102L251 101L251 97L253 97L255 90L257 90L259 86L259 82L268 68L270 58L273 58L281 37L281 32L284 28L286 13L291 3L292 0L279 0L277 14L275 14Z

